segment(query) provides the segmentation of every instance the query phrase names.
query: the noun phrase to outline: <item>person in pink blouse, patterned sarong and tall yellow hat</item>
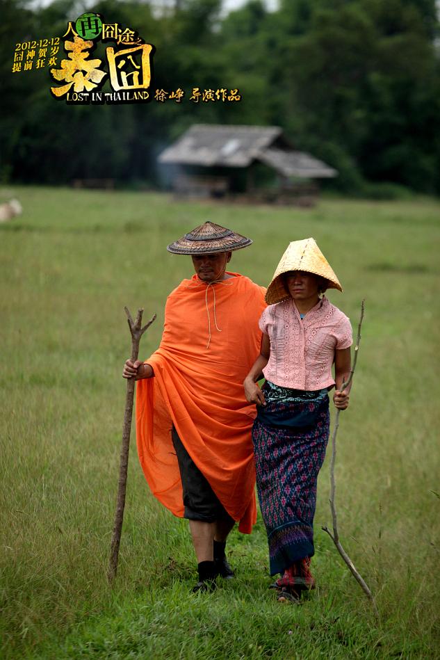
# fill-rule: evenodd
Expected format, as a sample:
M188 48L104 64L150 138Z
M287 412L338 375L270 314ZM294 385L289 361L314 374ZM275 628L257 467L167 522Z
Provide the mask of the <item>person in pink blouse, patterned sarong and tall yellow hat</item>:
M341 284L313 239L290 243L266 293L259 322L261 354L244 381L256 403L252 428L256 485L268 533L271 585L279 600L298 600L315 586L313 516L316 482L329 437L329 397L348 406L341 392L350 373L352 328L340 309L320 294ZM334 364L334 378L332 376ZM256 383L266 378L263 388Z

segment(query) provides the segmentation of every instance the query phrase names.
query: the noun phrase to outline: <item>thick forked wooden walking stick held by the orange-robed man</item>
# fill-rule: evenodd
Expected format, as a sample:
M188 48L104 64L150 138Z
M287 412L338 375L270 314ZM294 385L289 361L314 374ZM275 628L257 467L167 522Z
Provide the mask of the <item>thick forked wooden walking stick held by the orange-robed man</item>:
M140 337L144 334L145 330L156 319L156 314L141 328L142 312L143 309L138 309L136 321L133 321L131 314L127 307L124 307L127 314L127 321L131 332L131 360L135 362L138 359ZM127 380L127 396L125 399L125 412L124 412L124 427L122 428L122 447L120 456L119 468L119 485L117 488L117 505L115 513L115 524L113 526L113 536L111 540L110 561L108 563L108 581L113 582L116 577L117 571L117 558L119 556L119 546L121 541L122 521L124 520L124 507L125 507L125 491L127 488L127 469L129 465L129 449L130 449L130 430L131 430L131 416L133 414L133 399L134 399L134 378Z

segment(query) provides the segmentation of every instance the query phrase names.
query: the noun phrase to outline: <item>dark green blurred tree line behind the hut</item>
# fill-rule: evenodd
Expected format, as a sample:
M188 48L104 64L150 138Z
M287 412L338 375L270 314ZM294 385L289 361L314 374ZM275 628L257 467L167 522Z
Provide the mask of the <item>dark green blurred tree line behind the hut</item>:
M390 182L440 193L435 0L280 0L270 13L251 0L224 18L220 8L181 0L157 15L147 1L97 1L106 22L155 45L154 90L180 87L186 100L67 106L49 93L49 68L13 74L13 55L17 42L63 35L83 3L0 0L3 182L158 185L157 154L194 122L215 122L283 127L339 170L343 191ZM243 102L194 104L193 87L239 88Z

